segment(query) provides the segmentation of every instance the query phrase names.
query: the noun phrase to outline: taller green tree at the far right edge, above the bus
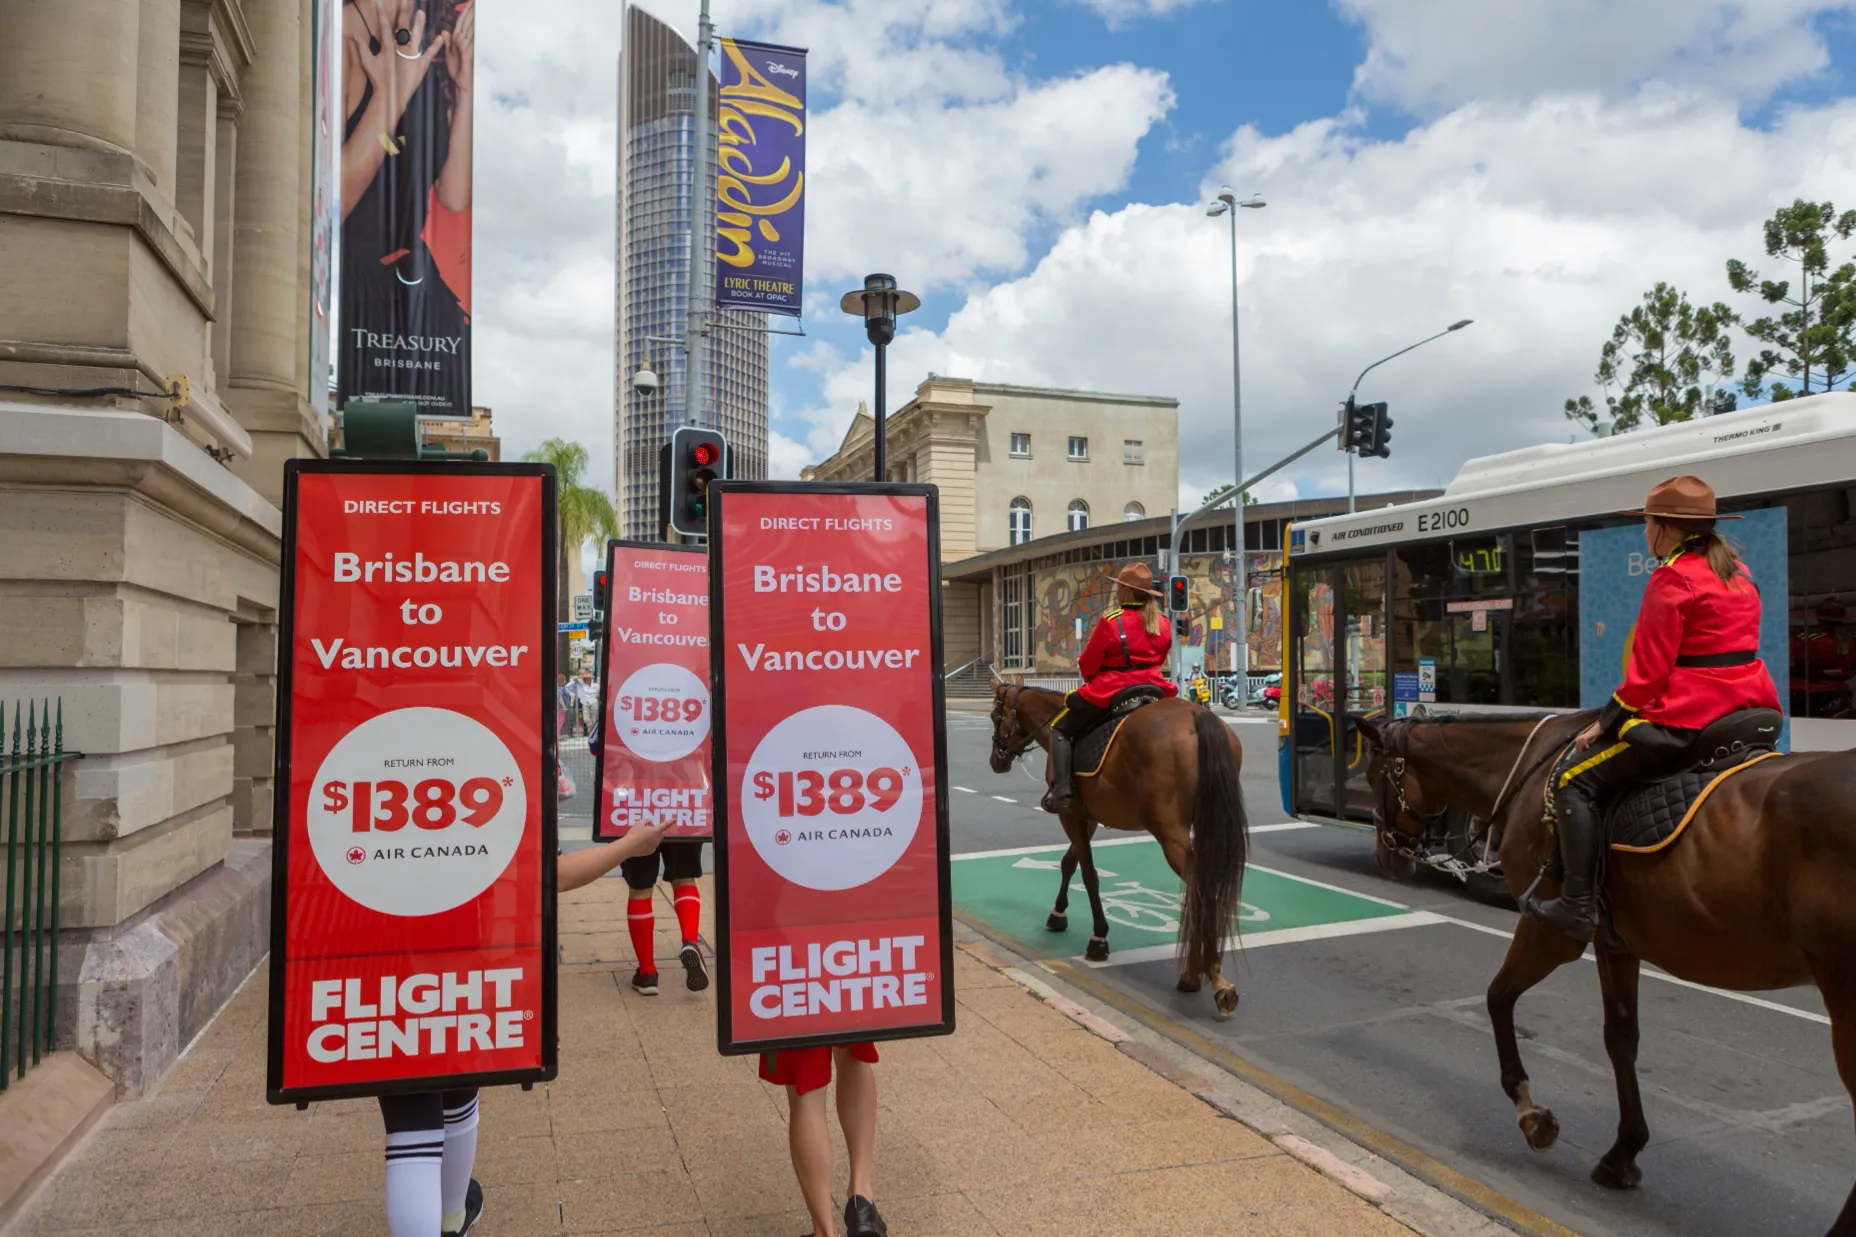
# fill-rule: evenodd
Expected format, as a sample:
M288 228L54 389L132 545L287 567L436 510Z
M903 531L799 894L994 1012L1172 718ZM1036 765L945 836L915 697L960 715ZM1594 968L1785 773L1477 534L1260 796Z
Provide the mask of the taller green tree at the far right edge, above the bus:
M1795 377L1798 388L1772 383L1772 399L1830 390L1849 373L1856 353L1850 340L1856 325L1856 266L1845 262L1836 271L1830 269L1830 238L1849 240L1850 232L1856 232L1856 210L1839 215L1830 202L1804 199L1782 206L1765 221L1765 253L1797 264L1797 290L1789 279L1759 279L1745 262L1728 260L1728 284L1734 292L1756 292L1767 305L1789 306L1778 318L1759 318L1746 325L1746 334L1769 345L1746 362L1741 388L1748 396L1758 396L1774 371Z

